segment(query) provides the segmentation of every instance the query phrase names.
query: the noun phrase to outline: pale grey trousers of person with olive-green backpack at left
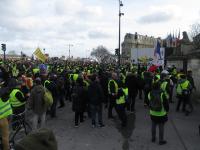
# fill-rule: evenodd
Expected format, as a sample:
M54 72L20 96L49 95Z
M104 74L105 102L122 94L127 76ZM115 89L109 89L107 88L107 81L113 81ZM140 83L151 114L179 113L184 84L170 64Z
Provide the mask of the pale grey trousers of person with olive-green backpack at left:
M38 127L39 120L40 120L40 126ZM44 112L42 115L34 114L33 115L33 130L44 128L45 120L46 120L46 112Z

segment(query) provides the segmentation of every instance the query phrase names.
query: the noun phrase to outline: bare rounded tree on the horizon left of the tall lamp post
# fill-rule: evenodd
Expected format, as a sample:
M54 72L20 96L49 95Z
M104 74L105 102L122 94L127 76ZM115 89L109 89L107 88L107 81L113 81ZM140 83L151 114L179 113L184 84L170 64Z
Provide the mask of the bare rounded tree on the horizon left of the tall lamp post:
M115 56L112 55L108 49L102 45L93 48L91 54L99 63L111 63L115 61Z

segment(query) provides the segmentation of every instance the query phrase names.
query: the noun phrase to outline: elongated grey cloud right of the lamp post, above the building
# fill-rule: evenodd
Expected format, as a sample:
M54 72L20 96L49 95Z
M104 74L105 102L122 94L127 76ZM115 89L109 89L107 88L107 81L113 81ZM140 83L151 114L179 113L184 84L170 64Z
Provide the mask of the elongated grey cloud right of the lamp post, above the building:
M155 12L146 16L142 16L138 22L143 24L147 23L161 23L161 22L167 22L173 18L172 13L166 13L166 12Z

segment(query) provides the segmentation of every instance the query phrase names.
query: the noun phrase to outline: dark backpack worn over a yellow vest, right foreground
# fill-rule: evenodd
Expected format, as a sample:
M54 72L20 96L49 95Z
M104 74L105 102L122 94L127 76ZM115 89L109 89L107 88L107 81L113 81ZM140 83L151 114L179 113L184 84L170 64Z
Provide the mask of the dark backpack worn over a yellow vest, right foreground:
M151 97L149 102L150 109L152 111L161 111L162 110L161 92L151 92L150 97Z

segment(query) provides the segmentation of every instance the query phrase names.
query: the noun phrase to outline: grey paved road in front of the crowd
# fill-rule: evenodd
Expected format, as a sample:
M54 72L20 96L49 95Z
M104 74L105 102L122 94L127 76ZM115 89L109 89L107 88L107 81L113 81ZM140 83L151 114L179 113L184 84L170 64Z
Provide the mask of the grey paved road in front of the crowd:
M54 131L59 150L200 150L199 105L195 104L193 114L186 117L176 113L175 104L171 104L169 121L165 126L168 143L160 146L158 142L151 143L151 120L141 100L137 100L136 113L128 115L126 129L120 128L117 116L108 120L106 113L104 128L92 128L89 119L79 128L74 128L74 113L71 104L66 104L65 108L58 110L56 119L47 119L47 127Z

